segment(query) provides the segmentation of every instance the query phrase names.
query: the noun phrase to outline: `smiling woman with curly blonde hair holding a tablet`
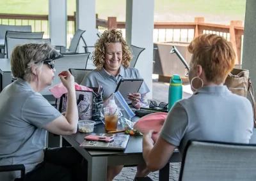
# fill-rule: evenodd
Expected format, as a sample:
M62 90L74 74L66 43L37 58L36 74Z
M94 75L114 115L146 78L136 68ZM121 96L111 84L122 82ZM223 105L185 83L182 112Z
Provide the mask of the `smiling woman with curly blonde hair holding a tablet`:
M81 85L87 87L101 85L104 89L103 99L107 99L115 92L121 78L141 78L138 69L129 67L132 60L131 50L122 36L122 31L117 29L109 29L102 33L95 43L92 60L97 69L88 73ZM148 86L143 82L138 93L129 94L128 99L131 100L134 108L139 109L147 105L148 92Z

